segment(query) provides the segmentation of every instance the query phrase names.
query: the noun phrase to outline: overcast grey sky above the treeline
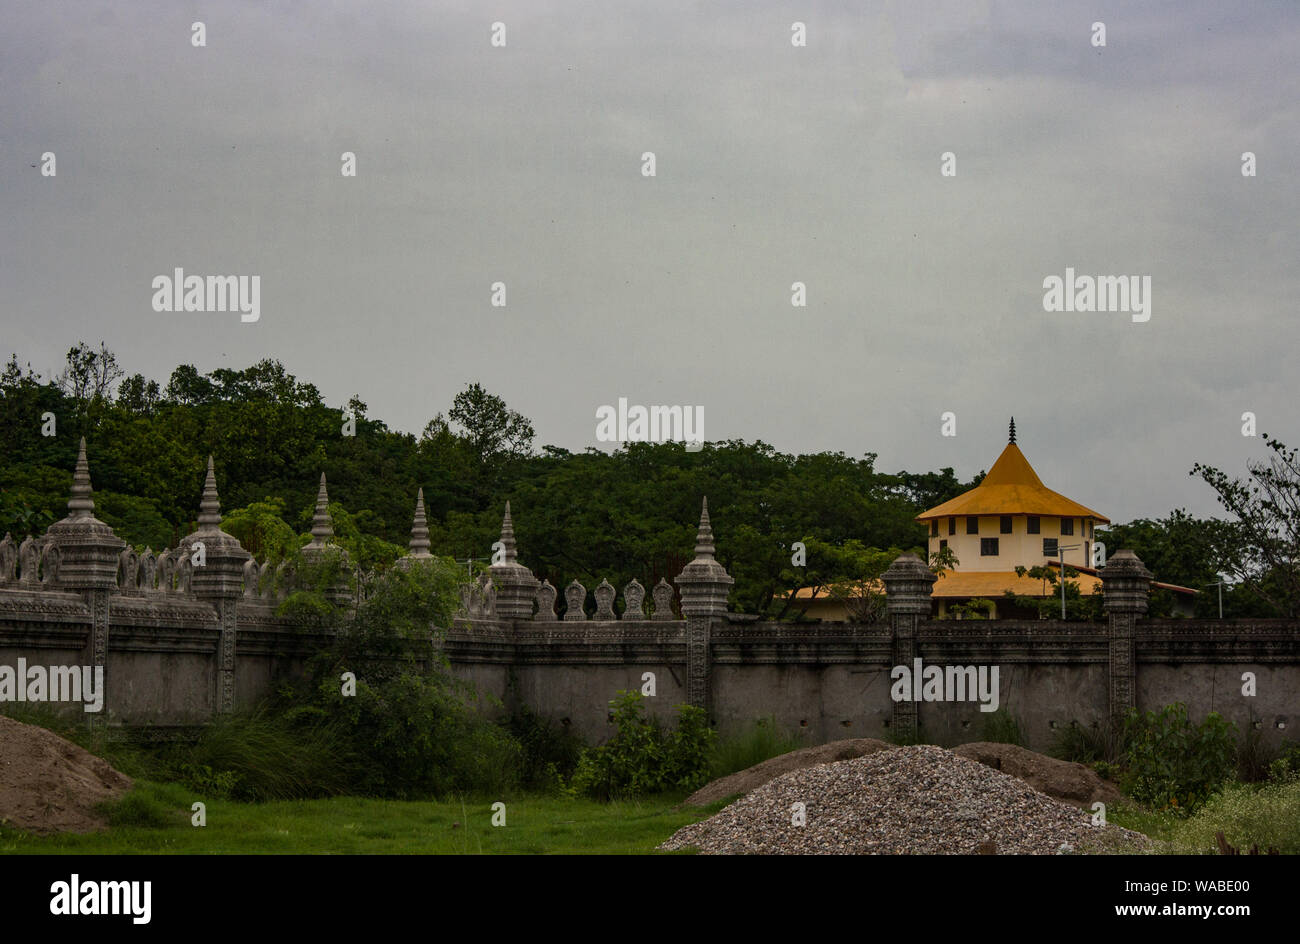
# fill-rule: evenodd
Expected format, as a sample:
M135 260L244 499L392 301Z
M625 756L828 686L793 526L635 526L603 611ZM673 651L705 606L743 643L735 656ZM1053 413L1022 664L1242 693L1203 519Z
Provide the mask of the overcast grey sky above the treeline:
M478 381L540 443L597 445L625 397L962 477L1014 413L1115 521L1214 514L1188 471L1264 454L1245 411L1300 443L1295 3L0 16L0 356L47 376L81 339L159 382L276 358L415 433ZM1150 320L1045 312L1066 267L1150 276ZM260 276L260 320L155 312L176 268Z

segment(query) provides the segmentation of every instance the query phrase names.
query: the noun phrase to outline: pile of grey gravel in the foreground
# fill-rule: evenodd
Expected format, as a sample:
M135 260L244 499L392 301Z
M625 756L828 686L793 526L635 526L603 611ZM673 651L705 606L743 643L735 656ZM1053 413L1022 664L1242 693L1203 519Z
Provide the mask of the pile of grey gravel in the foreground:
M793 823L794 804L806 822ZM935 746L784 774L660 849L714 854L1053 854L1141 852L1149 840L1023 780Z

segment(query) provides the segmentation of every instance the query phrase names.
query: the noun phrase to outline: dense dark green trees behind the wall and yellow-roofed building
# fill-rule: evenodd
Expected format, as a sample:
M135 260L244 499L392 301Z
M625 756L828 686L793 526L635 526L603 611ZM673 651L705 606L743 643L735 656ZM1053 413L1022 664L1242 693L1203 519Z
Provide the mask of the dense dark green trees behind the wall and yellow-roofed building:
M875 468L872 452L788 455L763 442L715 442L698 452L680 443L537 450L528 419L477 384L419 437L367 410L359 397L326 406L315 385L274 360L209 373L182 364L160 385L127 376L103 345L72 348L48 381L14 355L0 372L0 533L21 540L62 518L81 436L96 514L133 545L161 550L194 528L212 454L224 527L273 562L306 542L325 472L339 544L367 567L384 568L403 553L422 488L436 553L489 558L511 499L523 559L538 577L555 586L575 579L623 586L636 577L649 588L689 560L707 495L719 560L736 579L733 607L798 618L790 593L816 588L871 619L883 566L926 544L914 516L982 477L962 482L950 468L890 475ZM1266 441L1274 462L1252 467L1252 482L1193 469L1236 520L1174 511L1100 531L1098 540L1112 553L1135 550L1158 580L1206 590L1200 615L1217 614L1208 585L1221 572L1240 583L1225 590L1226 615L1297 611L1300 506L1292 499L1300 476L1294 452ZM806 566L792 563L796 542L806 547ZM1067 607L1083 616L1092 603L1067 588ZM1167 610L1167 593L1154 593L1153 615Z

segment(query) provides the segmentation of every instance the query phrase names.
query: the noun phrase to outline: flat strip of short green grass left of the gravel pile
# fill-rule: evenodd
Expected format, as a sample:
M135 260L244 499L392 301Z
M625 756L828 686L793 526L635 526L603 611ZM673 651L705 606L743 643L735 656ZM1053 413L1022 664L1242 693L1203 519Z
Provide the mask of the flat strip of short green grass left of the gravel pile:
M0 854L637 854L653 853L679 828L723 806L679 810L680 796L612 804L516 797L503 800L506 826L493 826L495 798L484 797L204 800L207 826L195 827L190 805L199 798L179 784L139 781L107 807L108 831L31 836L0 827Z

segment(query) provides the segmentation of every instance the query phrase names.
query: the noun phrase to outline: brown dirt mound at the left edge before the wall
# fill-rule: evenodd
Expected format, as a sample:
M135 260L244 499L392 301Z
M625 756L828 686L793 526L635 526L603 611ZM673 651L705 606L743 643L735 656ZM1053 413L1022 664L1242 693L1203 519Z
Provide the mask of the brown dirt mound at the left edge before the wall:
M0 823L29 832L104 828L95 805L131 779L58 735L0 715Z

